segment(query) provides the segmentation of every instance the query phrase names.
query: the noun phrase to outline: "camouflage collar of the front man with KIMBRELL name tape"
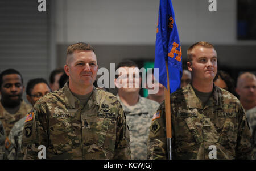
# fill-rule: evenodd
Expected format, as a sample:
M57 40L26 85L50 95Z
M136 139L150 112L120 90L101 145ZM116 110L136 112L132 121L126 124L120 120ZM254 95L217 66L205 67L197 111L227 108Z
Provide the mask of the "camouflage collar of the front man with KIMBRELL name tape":
M63 87L63 92L65 97L65 104L68 109L84 108L84 105L80 104L80 101L70 91L68 82ZM91 108L94 105L98 105L98 101L100 101L100 99L97 99L97 89L93 86L92 96L90 96L87 105L89 105L89 108Z

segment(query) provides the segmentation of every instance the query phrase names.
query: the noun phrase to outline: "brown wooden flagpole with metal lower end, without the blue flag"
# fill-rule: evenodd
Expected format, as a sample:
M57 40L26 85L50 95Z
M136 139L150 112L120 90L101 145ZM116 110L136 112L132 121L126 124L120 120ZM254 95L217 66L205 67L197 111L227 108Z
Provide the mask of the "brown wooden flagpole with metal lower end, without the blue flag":
M170 83L169 83L169 72L168 63L166 61L166 72L167 72L167 87L164 87L164 101L166 109L166 138L167 138L167 152L168 160L172 160L172 122L171 122L171 102L170 102Z

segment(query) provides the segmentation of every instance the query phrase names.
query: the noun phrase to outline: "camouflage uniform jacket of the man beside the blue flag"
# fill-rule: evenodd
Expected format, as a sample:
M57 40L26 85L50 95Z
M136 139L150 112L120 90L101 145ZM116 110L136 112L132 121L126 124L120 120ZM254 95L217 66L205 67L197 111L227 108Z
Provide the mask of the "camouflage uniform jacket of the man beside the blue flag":
M164 102L150 126L148 159L167 159ZM172 159L251 159L250 131L240 101L228 91L213 87L207 104L191 84L171 94ZM212 149L212 148L210 148Z

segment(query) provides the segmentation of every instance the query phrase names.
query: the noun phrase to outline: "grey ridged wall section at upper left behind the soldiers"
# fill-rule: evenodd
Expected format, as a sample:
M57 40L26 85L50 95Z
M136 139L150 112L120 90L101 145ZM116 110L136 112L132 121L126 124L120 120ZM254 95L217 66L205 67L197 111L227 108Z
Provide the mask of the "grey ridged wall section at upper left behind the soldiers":
M48 79L51 65L49 11L38 12L38 2L0 1L0 71L18 70L24 82ZM54 63L56 65L56 63Z

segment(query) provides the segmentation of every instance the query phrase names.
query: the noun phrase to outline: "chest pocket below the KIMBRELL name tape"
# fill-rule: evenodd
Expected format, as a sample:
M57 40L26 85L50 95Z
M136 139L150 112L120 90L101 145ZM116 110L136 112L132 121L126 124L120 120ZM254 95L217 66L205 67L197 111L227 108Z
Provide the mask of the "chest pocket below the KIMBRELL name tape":
M69 118L54 118L53 122L49 127L49 139L55 153L60 154L80 146Z

